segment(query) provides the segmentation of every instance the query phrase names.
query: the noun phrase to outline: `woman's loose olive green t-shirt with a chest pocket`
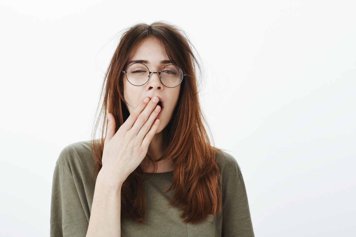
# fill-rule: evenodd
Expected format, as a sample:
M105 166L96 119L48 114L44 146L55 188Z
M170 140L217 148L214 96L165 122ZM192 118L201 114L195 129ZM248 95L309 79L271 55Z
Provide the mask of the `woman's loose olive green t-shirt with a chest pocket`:
M147 198L145 224L121 220L121 236L241 237L254 236L244 179L234 157L217 152L221 173L221 215L209 215L199 223L185 223L177 206L168 205L174 191L166 193L173 172L145 174ZM51 201L51 237L83 237L87 233L96 176L90 141L65 147L56 163Z

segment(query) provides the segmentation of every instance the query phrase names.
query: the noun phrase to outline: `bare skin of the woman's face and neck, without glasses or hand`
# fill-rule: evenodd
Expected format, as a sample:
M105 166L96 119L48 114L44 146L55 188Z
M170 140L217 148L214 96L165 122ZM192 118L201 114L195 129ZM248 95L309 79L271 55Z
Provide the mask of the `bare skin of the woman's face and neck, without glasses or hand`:
M147 61L145 65L150 71L153 72L161 71L164 66L170 64L167 62L161 64L161 61L168 61L169 58L160 42L153 37L146 38L140 45L138 45L138 47L132 52L127 66L137 60ZM176 107L179 98L180 85L174 88L168 88L161 83L159 76L156 73L151 74L150 80L142 86L134 86L130 84L126 77L124 77L123 82L124 98L126 100L126 107L130 114L144 97L152 98L153 96L158 96L163 99L163 109L159 118L161 122L159 123L156 134L150 143L150 149L156 155L155 158L159 158L163 153L162 130L167 126L172 118L174 108ZM173 170L172 162L170 160L159 161L157 162L157 165L158 173ZM148 168L146 172L154 172L153 167Z

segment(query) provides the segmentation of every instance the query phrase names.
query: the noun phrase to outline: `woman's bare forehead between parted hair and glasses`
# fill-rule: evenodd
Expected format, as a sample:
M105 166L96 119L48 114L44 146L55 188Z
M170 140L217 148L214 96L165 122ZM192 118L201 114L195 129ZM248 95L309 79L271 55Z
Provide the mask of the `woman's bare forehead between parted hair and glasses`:
M131 53L129 61L136 60L145 60L148 64L154 65L169 58L161 42L154 37L148 37L143 39Z

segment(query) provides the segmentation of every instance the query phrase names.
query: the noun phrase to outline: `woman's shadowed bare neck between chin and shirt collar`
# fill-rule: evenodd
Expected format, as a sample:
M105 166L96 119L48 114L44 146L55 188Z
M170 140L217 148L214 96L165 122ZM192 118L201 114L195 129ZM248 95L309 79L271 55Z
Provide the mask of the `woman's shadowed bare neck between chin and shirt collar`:
M152 155L153 155L153 160L157 160L159 159L164 152L164 134L163 131L161 131L160 133L157 133L149 146L149 149L152 151ZM155 171L155 168L150 165L147 169L145 169L145 172L147 173L164 173L164 172L168 172L168 171L173 171L174 167L173 167L173 162L171 159L167 158L158 162L155 162L157 165L157 171Z

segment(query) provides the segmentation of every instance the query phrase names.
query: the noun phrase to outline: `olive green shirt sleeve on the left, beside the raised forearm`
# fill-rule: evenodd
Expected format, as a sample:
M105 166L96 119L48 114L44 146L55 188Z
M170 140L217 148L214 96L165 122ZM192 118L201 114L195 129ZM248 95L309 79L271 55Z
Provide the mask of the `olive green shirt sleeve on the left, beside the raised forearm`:
M88 219L83 210L72 173L63 160L68 158L64 149L54 168L51 199L51 237L85 237Z

